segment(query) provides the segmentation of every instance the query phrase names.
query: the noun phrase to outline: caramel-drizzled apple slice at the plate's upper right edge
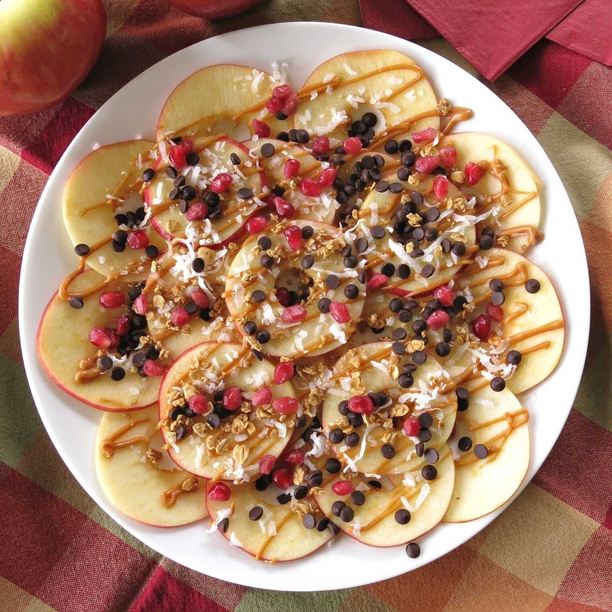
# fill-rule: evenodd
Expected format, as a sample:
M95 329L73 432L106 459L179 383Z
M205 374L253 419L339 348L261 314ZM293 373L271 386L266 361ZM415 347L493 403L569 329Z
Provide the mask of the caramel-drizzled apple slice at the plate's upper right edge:
M475 163L486 170L482 179L469 187L479 200L488 200L487 207L500 206L496 217L500 225L491 225L497 236L509 239L507 248L524 253L540 239L540 179L520 153L499 138L476 132L461 132L442 138L438 146L450 145L457 151L457 167L463 170ZM485 222L485 225L490 223Z

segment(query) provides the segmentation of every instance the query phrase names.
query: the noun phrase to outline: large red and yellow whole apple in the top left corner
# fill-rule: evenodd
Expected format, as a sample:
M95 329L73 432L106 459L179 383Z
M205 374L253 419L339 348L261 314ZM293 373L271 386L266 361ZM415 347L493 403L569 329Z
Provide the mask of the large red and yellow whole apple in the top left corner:
M0 0L0 116L67 98L102 50L102 0Z

